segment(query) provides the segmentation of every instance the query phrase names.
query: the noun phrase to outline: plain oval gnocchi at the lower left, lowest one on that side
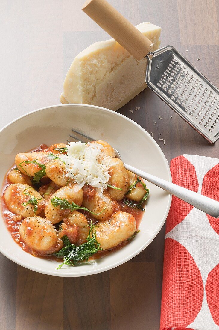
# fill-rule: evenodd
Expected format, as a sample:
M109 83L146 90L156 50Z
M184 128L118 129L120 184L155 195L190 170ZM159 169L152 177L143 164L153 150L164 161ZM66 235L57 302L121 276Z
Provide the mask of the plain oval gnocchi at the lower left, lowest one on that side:
M40 216L23 219L19 234L24 243L39 255L53 253L63 246L51 222Z

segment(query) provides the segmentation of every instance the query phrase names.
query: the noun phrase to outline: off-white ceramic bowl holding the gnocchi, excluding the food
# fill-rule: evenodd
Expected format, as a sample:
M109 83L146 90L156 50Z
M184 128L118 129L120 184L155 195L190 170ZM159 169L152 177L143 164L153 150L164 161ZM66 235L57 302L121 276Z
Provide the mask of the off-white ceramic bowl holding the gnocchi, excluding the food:
M67 104L33 111L12 121L0 131L0 184L2 185L4 175L14 163L18 152L28 151L42 143L50 146L65 142L71 134L71 128L91 136L94 140L109 142L119 150L125 163L171 181L170 169L162 150L150 134L134 121L104 108ZM57 270L58 264L55 261L34 257L14 242L2 214L0 251L18 265L54 276L86 276L119 266L151 243L168 215L171 196L151 183L147 183L147 186L150 189L150 197L140 225L140 233L125 247L102 259L75 267L64 266Z

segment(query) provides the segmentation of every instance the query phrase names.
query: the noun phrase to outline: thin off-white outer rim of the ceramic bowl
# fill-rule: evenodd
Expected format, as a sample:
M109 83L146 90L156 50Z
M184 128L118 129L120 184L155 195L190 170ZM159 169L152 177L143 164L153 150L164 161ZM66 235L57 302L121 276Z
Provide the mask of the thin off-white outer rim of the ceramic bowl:
M1 134L1 132L4 129L6 129L10 125L12 125L14 122L19 121L20 119L22 119L24 117L30 116L30 115L32 115L35 112L41 112L41 111L44 111L44 110L47 110L47 109L51 109L51 108L57 108L57 107L58 108L62 108L62 107L71 107L71 106L77 106L77 107L82 107L82 108L83 107L90 107L90 108L99 109L101 111L106 111L106 112L109 112L109 113L116 114L117 116L123 117L124 119L128 120L129 122L134 123L134 125L136 125L138 128L140 128L140 130L144 134L146 133L146 135L148 135L148 137L151 140L151 142L153 144L155 144L156 147L158 147L158 149L160 150L160 154L161 154L161 156L162 156L162 158L164 160L164 163L166 165L166 169L167 169L167 172L168 172L168 180L169 180L169 182L172 182L172 177L171 177L171 172L170 172L170 167L169 167L168 161L167 161L167 159L166 159L166 157L165 157L162 149L157 144L157 142L151 137L151 135L142 126L140 126L138 123L136 123L134 120L132 120L132 119L130 119L130 118L128 118L128 117L126 117L126 116L124 116L124 115L116 112L116 111L113 111L113 110L110 110L110 109L107 109L107 108L103 108L103 107L99 107L99 106L95 106L95 105L90 105L90 104L81 104L81 103L56 104L56 105L52 105L52 106L47 106L47 107L43 107L43 108L39 108L39 109L30 111L27 114L24 114L24 115L21 115L21 116L15 118L14 120L12 120L8 124L6 124L3 128L0 129L0 134ZM154 238L158 235L158 233L160 232L161 228L163 227L163 225L164 225L164 223L166 221L167 215L169 213L169 210L170 210L171 201L172 201L172 195L169 194L168 204L167 204L167 207L166 207L166 211L165 211L165 214L164 214L164 216L163 216L163 218L162 218L162 220L160 222L160 225L157 227L156 231L153 233L153 235L151 236L151 238L148 241L146 241L143 246L141 246L139 249L133 251L132 254L126 256L125 258L121 259L120 261L117 261L117 262L115 262L115 263L113 263L113 264L111 264L109 266L102 267L102 268L98 269L97 271L95 271L94 269L91 269L90 271L86 271L86 273L84 271L81 271L79 273L73 274L73 273L64 273L60 269L59 272L54 273L52 271L43 270L43 269L34 267L32 265L29 265L25 261L20 261L20 260L16 259L16 257L10 255L10 253L8 253L7 251L4 251L1 247L0 247L0 252L3 255L5 255L8 259L14 261L19 266L22 266L22 267L27 268L29 270L35 271L37 273L45 274L45 275L58 276L58 277L81 277L81 276L88 276L88 275L99 274L99 273L108 271L110 269L113 269L115 267L118 267L118 266L122 265L123 263L125 263L125 262L129 261L130 259L134 258L136 255L138 255L145 248L147 248L147 246L154 240Z

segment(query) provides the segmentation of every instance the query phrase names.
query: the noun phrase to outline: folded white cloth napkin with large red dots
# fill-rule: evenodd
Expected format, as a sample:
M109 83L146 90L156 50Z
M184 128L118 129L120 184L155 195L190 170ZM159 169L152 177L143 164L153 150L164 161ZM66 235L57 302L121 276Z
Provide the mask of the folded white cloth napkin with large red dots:
M219 159L182 155L172 180L219 201ZM219 329L219 219L173 196L166 222L161 330Z

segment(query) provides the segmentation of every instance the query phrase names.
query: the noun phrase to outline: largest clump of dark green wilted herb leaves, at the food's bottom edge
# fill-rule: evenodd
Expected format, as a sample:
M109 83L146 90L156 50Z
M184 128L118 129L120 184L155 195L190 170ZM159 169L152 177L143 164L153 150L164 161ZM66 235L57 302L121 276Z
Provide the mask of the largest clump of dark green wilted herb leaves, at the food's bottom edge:
M63 258L63 263L57 267L60 269L63 265L75 266L78 261L86 260L94 255L96 252L101 251L100 244L96 240L95 226L91 223L87 242L76 246L74 244L67 245L62 248L59 252L53 253L58 258Z

